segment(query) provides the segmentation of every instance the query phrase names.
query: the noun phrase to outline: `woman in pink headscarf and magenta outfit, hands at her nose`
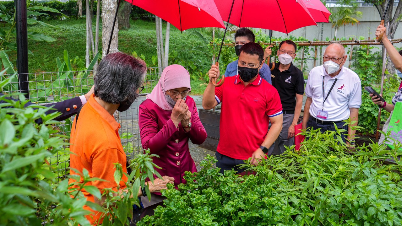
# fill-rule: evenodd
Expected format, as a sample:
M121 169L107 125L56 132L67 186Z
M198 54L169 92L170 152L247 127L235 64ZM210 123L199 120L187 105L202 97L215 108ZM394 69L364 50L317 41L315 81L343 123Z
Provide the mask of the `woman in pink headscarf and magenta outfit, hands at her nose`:
M185 183L185 171L197 172L189 150L189 139L193 144L202 144L207 132L198 116L191 91L190 74L180 65L166 67L158 84L147 99L139 105L139 132L144 149L150 149L156 169L161 176L174 178L174 185ZM156 193L157 194L157 193ZM142 199L144 207L161 201L153 195L152 203Z

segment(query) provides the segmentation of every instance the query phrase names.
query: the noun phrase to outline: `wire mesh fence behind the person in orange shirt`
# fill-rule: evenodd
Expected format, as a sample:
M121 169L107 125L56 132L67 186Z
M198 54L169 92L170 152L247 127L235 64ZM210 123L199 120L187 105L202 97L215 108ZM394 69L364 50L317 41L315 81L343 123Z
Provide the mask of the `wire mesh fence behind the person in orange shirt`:
M119 134L121 143L129 160L135 154L142 152L141 140L138 127L138 107L146 99L146 95L152 91L160 77L162 68L148 68L144 81L144 90L140 97L125 112L115 112L114 117L120 123ZM29 96L32 103L38 105L51 105L59 101L78 97L89 92L94 84L94 74L96 71L70 71L70 72L41 72L30 73L29 76ZM3 75L0 81L12 75ZM12 94L18 99L18 78L14 77L12 82L5 86L0 92ZM53 125L58 134L66 136L65 142L70 141L70 132L74 117L68 118L62 123ZM47 159L53 172L57 173L58 179L63 179L70 173L70 146L64 146L64 150L59 151L55 156Z

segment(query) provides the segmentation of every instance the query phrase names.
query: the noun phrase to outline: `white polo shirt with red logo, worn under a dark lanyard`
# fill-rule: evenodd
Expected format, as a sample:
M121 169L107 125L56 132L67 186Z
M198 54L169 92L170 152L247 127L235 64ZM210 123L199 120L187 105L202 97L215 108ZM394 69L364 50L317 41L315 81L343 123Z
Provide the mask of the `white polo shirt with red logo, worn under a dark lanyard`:
M322 78L324 78L324 97L322 95ZM335 79L338 79L324 102ZM318 110L328 111L327 119L323 121L342 121L349 119L349 108L359 108L361 105L361 82L359 76L349 68L342 67L334 78L328 75L324 66L318 66L310 71L306 84L306 96L312 98L310 115L317 118ZM320 119L320 118L317 118Z

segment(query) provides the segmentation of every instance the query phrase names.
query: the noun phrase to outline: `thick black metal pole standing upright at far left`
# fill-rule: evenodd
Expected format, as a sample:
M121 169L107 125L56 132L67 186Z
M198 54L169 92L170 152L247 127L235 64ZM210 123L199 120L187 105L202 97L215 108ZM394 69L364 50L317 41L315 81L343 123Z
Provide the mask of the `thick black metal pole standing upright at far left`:
M14 0L17 41L18 88L29 99L27 0Z

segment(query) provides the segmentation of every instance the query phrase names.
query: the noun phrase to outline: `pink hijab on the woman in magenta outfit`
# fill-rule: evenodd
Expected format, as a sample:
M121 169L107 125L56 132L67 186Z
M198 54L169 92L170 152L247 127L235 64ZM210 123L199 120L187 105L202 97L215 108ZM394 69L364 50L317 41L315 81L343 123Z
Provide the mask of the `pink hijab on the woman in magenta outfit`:
M191 90L189 71L178 64L169 65L163 70L158 84L156 84L152 92L147 95L147 99L151 99L152 102L166 111L172 111L173 108L170 107L165 99L165 92L166 90L181 87L187 87Z

